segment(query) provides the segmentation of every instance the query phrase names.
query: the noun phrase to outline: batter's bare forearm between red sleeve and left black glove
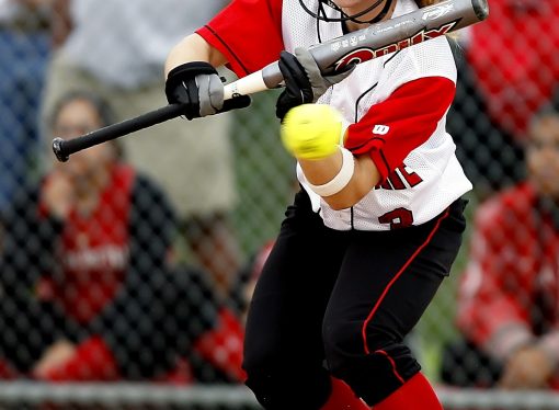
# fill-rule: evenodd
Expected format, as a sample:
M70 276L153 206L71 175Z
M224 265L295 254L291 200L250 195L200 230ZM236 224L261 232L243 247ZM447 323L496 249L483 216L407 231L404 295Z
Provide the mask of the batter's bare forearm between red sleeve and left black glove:
M166 78L174 67L189 61L207 61L214 67L227 62L220 52L212 47L196 33L184 37L171 49L164 65Z

